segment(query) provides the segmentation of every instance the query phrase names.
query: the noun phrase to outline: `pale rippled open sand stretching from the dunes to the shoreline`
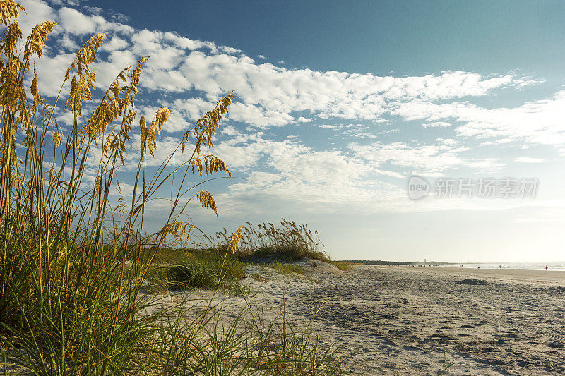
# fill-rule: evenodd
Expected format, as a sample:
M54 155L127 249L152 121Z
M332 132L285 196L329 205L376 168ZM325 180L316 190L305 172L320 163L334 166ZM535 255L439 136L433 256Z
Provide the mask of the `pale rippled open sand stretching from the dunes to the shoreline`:
M311 322L322 345L343 346L353 372L437 375L452 362L446 375L565 372L565 272L363 265L343 273L317 263L300 263L311 278L253 265L266 281L244 284L272 319L284 297L290 320ZM456 283L468 278L487 284ZM240 297L215 303L226 316L244 306Z

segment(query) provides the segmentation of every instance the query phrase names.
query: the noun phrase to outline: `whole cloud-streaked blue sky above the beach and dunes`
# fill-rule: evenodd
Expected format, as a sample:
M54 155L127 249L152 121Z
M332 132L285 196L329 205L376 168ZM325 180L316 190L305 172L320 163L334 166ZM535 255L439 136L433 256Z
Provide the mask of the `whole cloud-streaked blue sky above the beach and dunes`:
M236 178L209 186L220 217L192 215L207 231L285 217L319 229L335 259L565 259L563 2L23 5L24 28L59 23L40 87L95 32L100 88L151 56L139 114L172 109L155 163L236 90L215 150ZM540 183L535 198L410 200L414 174Z

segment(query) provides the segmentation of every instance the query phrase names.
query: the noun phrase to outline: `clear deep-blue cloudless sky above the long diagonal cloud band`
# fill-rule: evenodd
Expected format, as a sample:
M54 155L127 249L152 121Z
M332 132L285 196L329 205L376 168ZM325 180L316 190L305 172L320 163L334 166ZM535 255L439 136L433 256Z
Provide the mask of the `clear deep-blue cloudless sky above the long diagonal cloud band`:
M562 1L96 1L135 28L176 31L295 68L386 75L560 75ZM139 4L133 6L132 4Z

